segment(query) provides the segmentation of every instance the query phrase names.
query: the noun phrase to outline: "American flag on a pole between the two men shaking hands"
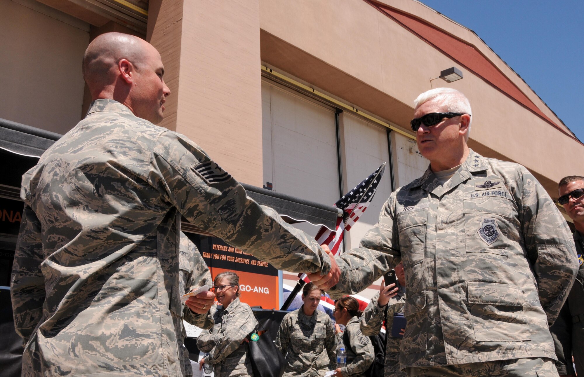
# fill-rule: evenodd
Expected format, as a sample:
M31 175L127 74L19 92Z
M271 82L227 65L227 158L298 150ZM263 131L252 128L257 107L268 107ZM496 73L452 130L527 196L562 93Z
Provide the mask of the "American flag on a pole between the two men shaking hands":
M321 229L319 229L314 238L319 245L327 245L335 255L339 252L340 245L343 242L343 231L350 231L351 227L361 217L361 214L365 212L367 206L373 200L384 170L385 162L334 204L334 207L343 210L343 217L337 219L336 230L334 232L325 226L321 226ZM298 278L305 282L310 282L306 274L298 274Z

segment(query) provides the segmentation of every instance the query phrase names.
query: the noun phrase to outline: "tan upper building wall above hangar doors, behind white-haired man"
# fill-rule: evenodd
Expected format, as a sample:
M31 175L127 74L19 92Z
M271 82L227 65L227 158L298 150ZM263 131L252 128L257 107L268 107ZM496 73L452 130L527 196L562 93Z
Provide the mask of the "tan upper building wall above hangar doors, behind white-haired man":
M385 3L474 45L538 109L565 129L533 90L470 30L419 2ZM413 115L413 99L432 88L430 78L459 65L366 1L261 0L260 27L262 60L267 64L404 130ZM522 163L553 196L557 196L555 183L561 177L584 171L584 162L573 162L570 157L584 152L582 143L479 76L465 69L463 74L460 81L437 80L432 85L450 86L469 97L472 148Z

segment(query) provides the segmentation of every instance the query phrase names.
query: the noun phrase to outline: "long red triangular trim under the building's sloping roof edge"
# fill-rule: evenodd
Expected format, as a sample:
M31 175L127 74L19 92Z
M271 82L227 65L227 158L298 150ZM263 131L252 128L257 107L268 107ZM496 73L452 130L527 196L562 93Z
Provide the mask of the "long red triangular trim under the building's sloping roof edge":
M510 81L498 68L495 67L484 55L482 55L474 46L465 43L450 34L437 29L433 25L426 23L418 18L399 12L396 9L389 8L386 5L378 4L371 0L364 0L371 6L376 8L384 15L388 16L399 25L405 27L410 32L418 36L420 39L426 41L444 55L447 55L452 60L461 64L464 68L471 71L473 74L482 78L500 92L509 96L517 103L526 107L531 112L543 118L545 121L553 125L562 133L568 135L572 139L579 141L572 134L566 132L559 127L554 121L547 117L517 86Z

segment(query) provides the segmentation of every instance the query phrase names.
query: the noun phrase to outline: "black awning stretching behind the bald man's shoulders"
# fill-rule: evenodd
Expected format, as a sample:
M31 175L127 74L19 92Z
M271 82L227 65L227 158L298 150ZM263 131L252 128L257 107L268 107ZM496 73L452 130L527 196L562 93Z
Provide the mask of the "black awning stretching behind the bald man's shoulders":
M0 188L4 186L8 189L6 186L11 186L18 189L22 174L34 166L38 157L61 136L54 132L0 118L0 157L5 161L0 164ZM342 211L331 205L276 193L250 184L244 183L242 186L249 197L259 204L274 208L290 224L308 221L335 229L336 219L342 216ZM186 231L198 233L192 225L185 224L184 228Z

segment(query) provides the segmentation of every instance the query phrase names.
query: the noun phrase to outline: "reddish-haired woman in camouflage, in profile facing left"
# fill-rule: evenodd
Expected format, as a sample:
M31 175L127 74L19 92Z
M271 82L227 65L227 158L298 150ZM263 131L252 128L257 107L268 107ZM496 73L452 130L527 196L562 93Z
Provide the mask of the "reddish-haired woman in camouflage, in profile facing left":
M336 368L336 377L364 377L364 372L373 364L373 345L369 337L361 334L361 313L359 302L351 296L335 301L336 337L339 343L345 343L347 353L347 364ZM340 331L339 324L345 326L344 332ZM347 336L344 336L345 333Z

